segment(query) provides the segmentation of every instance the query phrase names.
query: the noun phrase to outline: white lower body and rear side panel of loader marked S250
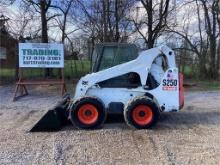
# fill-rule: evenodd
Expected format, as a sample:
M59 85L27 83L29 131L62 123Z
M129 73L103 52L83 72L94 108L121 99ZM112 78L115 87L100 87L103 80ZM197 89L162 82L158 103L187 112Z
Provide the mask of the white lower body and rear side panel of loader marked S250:
M178 69L170 68L164 74L161 84L153 90L144 90L142 87L127 88L90 88L86 95L96 96L108 108L111 102L122 102L124 105L136 96L143 96L151 93L158 101L159 106L164 107L164 111L179 110L179 77Z

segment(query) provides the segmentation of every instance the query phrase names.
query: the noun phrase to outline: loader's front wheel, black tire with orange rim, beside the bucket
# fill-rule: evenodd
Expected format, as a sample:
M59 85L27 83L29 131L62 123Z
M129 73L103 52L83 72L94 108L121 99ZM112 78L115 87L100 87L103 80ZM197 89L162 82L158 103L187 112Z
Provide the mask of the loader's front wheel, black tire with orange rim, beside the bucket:
M93 109L88 107L88 105L92 106ZM81 116L82 115L81 111L82 111L82 107L85 106L88 107L88 110L85 110L85 108L83 108L85 110L85 112L83 113L84 119L85 117L91 117L93 113L92 110L94 109L95 109L95 113L97 112L96 114L98 114L98 117L96 117L97 119L92 123L85 123L85 121L82 121L83 118ZM90 114L86 114L87 111ZM76 101L75 105L72 107L72 110L70 112L72 124L80 129L101 128L106 120L106 116L107 116L107 112L105 110L104 104L101 102L101 100L95 97L83 97L79 99L78 101Z

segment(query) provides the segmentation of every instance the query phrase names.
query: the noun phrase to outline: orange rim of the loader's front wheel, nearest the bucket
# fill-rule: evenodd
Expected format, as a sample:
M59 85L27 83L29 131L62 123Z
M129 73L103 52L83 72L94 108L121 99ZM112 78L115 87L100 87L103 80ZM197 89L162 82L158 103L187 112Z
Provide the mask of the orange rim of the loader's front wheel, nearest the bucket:
M98 110L92 104L82 105L78 111L78 118L83 124L94 124L98 120Z

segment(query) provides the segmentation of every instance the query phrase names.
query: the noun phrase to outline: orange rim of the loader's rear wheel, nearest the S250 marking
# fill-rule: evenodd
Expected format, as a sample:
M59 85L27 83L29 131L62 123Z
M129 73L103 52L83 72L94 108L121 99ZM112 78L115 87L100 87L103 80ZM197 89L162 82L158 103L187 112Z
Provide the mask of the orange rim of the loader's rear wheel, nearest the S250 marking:
M132 112L132 118L138 125L147 125L153 119L152 109L147 105L138 105Z

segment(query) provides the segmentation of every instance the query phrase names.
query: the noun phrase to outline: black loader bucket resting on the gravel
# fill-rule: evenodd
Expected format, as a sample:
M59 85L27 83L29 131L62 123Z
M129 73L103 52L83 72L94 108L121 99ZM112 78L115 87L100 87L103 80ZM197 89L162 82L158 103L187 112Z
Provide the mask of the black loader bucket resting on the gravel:
M30 129L30 132L51 132L60 130L69 123L68 111L69 97L63 98L53 109L47 111L44 116Z

